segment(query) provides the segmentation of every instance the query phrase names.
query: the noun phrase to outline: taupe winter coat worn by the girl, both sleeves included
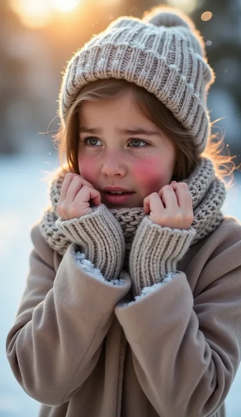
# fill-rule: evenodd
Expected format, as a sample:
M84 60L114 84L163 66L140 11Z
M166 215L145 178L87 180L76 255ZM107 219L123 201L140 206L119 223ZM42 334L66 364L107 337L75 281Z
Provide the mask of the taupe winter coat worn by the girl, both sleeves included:
M241 352L241 225L225 219L134 301L127 273L84 271L76 246L62 259L39 225L32 240L7 354L41 417L224 416Z

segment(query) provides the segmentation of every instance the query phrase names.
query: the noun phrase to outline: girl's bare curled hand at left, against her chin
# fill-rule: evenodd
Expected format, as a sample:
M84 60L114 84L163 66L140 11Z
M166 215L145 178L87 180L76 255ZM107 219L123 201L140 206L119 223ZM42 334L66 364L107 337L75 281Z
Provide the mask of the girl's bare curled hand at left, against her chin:
M68 173L65 176L61 195L57 204L57 214L63 220L79 218L91 214L89 200L95 205L101 204L100 192L91 183L85 181L81 175Z

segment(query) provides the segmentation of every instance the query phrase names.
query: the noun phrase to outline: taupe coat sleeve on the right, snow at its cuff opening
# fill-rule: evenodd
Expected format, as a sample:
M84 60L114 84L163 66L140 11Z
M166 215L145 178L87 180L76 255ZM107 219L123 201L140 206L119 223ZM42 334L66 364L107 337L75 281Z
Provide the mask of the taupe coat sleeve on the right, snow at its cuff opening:
M115 307L139 383L160 415L209 417L229 392L241 352L240 227L236 238L228 247L226 234L205 264L195 297L177 271Z

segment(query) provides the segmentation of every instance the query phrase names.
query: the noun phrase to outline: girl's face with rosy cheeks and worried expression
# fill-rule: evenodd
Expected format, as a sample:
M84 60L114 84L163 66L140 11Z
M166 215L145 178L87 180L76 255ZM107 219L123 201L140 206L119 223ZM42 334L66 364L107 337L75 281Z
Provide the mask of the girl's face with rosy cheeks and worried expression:
M174 145L141 114L131 92L85 102L79 127L80 174L100 191L107 207L141 207L147 195L170 184ZM131 193L110 194L106 187Z

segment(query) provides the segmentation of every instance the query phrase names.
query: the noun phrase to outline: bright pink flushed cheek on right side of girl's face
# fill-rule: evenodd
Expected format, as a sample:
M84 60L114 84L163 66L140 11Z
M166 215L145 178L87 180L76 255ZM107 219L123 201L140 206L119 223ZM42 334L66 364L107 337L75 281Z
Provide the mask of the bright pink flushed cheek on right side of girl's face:
M158 192L167 184L167 172L162 168L160 158L142 159L133 164L135 183L143 196Z

